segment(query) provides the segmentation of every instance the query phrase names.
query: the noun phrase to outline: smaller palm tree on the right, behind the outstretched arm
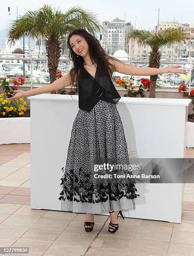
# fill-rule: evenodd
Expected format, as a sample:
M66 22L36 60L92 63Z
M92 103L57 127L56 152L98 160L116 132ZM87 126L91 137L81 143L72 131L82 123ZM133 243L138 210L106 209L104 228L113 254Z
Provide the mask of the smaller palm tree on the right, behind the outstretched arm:
M161 59L160 48L170 46L171 44L181 44L188 40L188 35L185 31L178 28L167 28L163 33L152 33L135 29L126 36L126 41L130 39L137 40L138 46L150 46L149 67L159 68ZM158 75L150 76L150 98L155 97L157 77Z

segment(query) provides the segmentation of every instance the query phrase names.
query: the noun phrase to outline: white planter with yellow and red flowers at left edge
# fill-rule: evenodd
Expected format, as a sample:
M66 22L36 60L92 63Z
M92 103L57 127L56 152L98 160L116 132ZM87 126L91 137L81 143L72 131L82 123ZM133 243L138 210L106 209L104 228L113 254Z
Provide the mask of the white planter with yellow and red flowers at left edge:
M13 79L12 90L23 84L23 77ZM4 77L2 87L5 93L0 94L0 144L30 143L30 118L22 117L26 112L26 101L23 97L8 102L13 97L9 83Z

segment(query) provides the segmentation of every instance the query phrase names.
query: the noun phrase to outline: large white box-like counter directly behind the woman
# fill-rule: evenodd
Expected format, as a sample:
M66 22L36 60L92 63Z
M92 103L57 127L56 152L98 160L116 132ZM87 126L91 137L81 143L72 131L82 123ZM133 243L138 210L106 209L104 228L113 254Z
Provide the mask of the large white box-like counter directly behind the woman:
M78 96L41 94L31 100L31 208L61 210L61 168ZM130 158L184 158L189 99L122 97L117 110ZM184 184L136 183L140 197L125 217L181 222ZM108 214L108 213L107 213Z

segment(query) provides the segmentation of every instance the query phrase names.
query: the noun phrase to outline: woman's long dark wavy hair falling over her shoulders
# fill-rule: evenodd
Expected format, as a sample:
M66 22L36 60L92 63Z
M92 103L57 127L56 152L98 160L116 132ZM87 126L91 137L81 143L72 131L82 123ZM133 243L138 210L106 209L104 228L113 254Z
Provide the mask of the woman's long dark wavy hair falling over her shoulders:
M73 84L78 87L77 80L79 79L79 76L82 74L84 70L84 58L80 55L74 53L73 49L71 48L71 45L69 43L69 40L71 36L73 35L79 35L82 36L88 44L89 48L89 56L92 59L92 61L95 61L95 63L98 66L99 73L102 74L102 71L107 71L110 74L110 77L112 77L112 73L115 72L115 67L112 63L110 63L107 60L107 57L112 60L117 60L113 57L108 56L102 46L100 45L100 41L95 37L92 36L90 33L88 33L85 29L76 29L72 31L67 39L67 47L69 49L69 59L72 59L74 67L70 70L69 74L71 77L71 90L73 87Z

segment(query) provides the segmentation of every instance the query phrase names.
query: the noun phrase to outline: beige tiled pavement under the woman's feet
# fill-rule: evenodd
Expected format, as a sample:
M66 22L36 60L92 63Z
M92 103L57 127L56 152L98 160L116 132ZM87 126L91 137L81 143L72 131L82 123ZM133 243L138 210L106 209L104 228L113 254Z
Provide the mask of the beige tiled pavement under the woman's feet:
M194 158L194 148L185 157ZM184 200L181 224L118 218L109 234L109 217L95 215L86 233L84 214L30 209L30 144L0 145L0 247L30 249L15 255L194 256L194 184L185 184Z

